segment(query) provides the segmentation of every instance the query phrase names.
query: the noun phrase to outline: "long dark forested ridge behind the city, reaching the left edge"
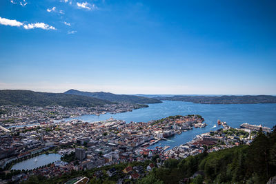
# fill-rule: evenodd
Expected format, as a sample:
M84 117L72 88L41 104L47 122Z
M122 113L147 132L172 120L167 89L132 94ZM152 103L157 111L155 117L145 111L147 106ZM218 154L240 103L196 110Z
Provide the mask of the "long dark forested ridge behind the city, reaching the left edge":
M33 92L30 90L0 90L1 105L46 106L61 105L64 107L93 107L111 104L110 101L63 93Z

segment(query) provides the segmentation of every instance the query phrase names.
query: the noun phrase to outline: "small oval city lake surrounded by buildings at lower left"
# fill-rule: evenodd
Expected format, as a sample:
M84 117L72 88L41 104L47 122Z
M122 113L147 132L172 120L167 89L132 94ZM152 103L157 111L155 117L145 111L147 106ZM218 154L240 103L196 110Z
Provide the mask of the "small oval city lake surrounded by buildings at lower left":
M26 161L21 161L12 166L12 170L32 170L55 161L60 161L59 154L41 154Z

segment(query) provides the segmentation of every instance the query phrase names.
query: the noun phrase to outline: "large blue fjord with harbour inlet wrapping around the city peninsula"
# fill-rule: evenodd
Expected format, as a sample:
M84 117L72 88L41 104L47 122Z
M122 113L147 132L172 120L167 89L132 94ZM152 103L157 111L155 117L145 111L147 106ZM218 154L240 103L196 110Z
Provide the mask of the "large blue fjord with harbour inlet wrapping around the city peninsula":
M180 135L175 135L169 141L159 141L157 145L170 145L174 147L191 141L195 135L209 132L210 130L217 130L220 127L213 127L217 125L217 120L226 121L231 127L239 127L242 123L262 124L266 127L273 127L276 125L276 104L199 104L183 101L164 101L164 103L150 104L149 108L133 110L132 112L124 112L119 114L102 114L84 115L76 118L66 119L80 119L83 121L103 121L109 119L111 116L114 119L121 119L129 123L148 122L154 119L161 119L172 115L186 115L186 114L200 114L204 117L205 123L208 125L204 128L194 128L188 132L183 132ZM153 148L157 145L152 145Z

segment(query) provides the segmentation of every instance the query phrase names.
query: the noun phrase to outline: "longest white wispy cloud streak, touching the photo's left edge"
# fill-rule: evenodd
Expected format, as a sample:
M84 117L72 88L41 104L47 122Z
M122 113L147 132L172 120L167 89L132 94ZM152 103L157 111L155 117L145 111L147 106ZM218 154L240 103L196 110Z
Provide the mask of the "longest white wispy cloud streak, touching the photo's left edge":
M10 25L10 26L23 26L24 29L26 30L30 30L30 29L34 29L34 28L41 28L43 30L57 30L55 27L53 27L52 25L48 25L47 23L21 23L20 21L17 20L10 20L10 19L6 19L6 18L2 18L0 17L0 24L2 25Z

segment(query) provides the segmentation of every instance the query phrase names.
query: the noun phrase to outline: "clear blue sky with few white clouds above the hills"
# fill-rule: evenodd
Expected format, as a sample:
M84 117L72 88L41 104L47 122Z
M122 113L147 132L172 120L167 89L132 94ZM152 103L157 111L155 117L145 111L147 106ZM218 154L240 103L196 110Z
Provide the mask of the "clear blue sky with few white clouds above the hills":
M276 1L1 0L0 89L276 94Z

